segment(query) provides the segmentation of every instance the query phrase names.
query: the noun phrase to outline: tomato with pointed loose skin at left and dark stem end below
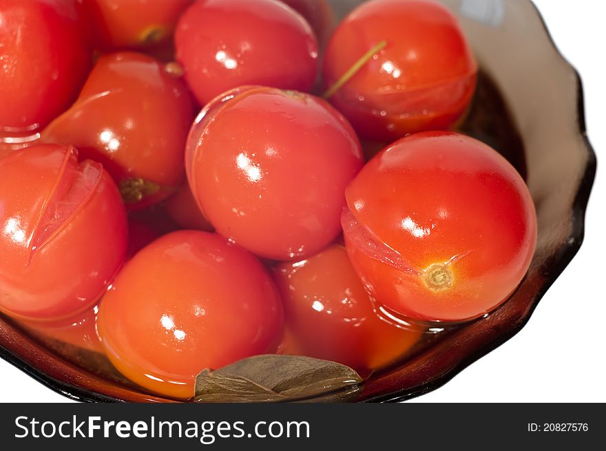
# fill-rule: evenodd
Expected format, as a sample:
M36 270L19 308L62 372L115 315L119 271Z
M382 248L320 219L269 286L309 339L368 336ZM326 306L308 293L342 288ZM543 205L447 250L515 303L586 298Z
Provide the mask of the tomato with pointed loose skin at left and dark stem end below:
M102 56L76 103L42 133L102 162L129 209L167 198L185 175L194 119L187 87L158 61L134 52Z

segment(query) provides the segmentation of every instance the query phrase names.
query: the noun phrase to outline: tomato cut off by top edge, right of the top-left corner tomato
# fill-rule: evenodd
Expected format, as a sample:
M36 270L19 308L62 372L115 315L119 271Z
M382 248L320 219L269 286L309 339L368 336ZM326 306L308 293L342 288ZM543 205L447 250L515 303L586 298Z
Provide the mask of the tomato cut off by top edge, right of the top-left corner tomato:
M170 40L193 0L87 0L96 45L102 50L145 50Z

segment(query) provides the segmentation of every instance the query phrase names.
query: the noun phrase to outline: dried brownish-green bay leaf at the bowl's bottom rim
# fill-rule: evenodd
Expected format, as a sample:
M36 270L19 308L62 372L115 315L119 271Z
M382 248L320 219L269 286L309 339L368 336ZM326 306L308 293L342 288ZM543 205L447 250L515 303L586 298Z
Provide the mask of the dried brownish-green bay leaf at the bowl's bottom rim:
M334 361L298 355L255 355L196 377L198 402L276 402L354 399L363 379Z

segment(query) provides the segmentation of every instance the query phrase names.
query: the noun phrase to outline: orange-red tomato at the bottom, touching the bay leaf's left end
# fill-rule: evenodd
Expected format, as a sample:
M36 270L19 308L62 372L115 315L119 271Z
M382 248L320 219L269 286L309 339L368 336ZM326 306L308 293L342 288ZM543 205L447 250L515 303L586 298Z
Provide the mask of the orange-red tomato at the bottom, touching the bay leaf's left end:
M213 233L177 231L125 265L97 325L123 375L187 399L202 369L273 352L282 324L275 285L253 255Z

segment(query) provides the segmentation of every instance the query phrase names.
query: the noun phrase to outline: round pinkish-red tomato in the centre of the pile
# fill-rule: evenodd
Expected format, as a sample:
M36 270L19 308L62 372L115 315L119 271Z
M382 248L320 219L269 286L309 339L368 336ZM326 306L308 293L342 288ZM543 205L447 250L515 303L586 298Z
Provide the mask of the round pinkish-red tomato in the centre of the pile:
M275 260L336 238L344 189L362 164L355 132L331 105L269 87L209 103L186 149L189 186L216 231Z

